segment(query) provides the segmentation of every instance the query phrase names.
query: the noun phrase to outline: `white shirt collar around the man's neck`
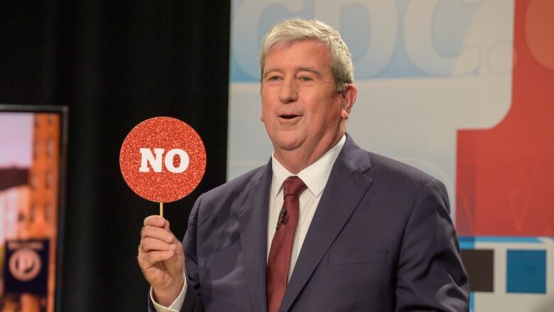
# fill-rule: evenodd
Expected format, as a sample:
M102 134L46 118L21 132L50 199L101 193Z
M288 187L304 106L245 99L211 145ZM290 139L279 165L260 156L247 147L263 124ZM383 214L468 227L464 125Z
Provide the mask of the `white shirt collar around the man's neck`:
M343 134L340 141L321 156L317 161L310 164L310 166L303 168L296 176L302 179L308 190L317 197L323 192L325 184L331 174L333 163L337 160L342 146L344 146L346 136ZM271 180L271 196L277 198L277 195L283 188L283 183L289 176L295 176L288 171L281 163L275 158L275 153L271 154L271 169L273 170L273 178Z

